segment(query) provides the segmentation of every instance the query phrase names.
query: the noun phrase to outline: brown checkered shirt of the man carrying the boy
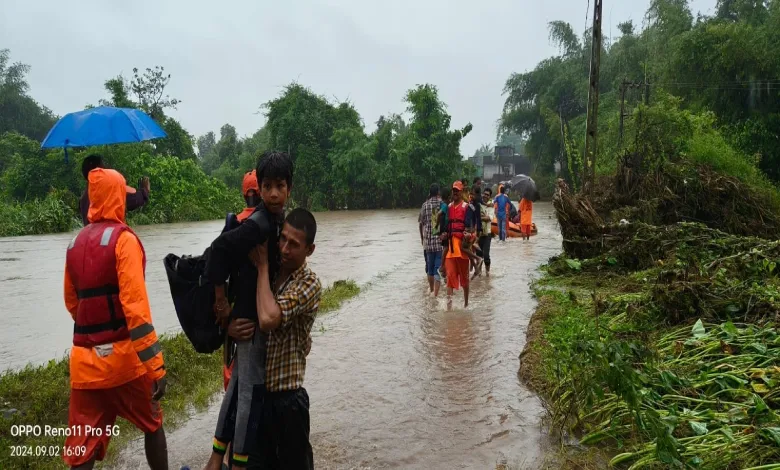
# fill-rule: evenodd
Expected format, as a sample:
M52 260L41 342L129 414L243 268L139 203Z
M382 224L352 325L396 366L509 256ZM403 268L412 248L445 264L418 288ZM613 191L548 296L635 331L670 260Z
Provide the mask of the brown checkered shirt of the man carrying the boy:
M295 390L303 386L306 373L306 345L320 306L322 285L306 263L276 292L282 322L268 335L265 387L269 392Z

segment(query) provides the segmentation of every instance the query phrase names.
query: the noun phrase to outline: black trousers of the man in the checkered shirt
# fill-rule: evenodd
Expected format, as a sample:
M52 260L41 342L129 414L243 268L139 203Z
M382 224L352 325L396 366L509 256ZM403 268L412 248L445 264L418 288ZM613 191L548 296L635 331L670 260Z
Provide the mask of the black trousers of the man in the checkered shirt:
M266 392L258 448L263 469L310 470L314 454L309 441L309 395L303 387Z

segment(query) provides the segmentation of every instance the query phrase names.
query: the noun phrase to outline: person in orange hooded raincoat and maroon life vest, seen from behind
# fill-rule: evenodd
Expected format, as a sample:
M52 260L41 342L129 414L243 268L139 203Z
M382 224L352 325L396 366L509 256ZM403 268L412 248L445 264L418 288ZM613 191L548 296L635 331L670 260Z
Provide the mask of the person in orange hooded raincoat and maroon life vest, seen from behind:
M103 460L121 416L145 434L149 466L168 468L159 400L165 363L152 326L143 245L125 224L125 178L89 172L89 222L68 246L65 305L75 322L65 463Z

